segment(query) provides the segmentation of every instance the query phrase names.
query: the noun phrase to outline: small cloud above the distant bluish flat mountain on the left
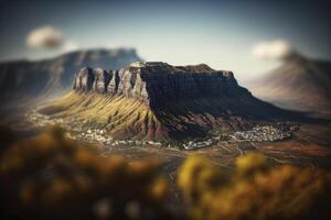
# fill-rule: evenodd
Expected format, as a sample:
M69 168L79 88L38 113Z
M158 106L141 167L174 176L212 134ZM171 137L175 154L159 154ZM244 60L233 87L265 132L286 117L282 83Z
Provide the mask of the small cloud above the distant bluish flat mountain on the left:
M34 29L26 36L26 45L31 48L58 48L62 44L63 34L50 25Z

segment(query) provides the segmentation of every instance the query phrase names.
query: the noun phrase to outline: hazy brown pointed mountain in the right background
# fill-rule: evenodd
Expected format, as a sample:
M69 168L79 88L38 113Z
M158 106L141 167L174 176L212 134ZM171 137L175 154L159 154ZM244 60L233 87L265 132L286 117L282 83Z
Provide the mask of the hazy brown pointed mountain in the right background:
M296 54L247 87L258 98L282 108L331 112L331 62Z

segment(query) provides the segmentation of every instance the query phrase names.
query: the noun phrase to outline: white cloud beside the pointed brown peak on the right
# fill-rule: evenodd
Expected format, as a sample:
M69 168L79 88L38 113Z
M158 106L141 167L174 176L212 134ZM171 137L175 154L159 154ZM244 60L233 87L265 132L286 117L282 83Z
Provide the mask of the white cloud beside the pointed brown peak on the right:
M292 47L282 40L258 43L252 52L264 59L284 59L293 53Z

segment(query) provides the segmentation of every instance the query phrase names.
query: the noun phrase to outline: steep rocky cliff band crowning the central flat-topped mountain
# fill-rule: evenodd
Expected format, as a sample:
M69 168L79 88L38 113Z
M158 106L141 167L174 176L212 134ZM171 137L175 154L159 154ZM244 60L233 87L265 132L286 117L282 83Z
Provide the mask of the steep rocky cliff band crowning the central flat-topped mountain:
M249 95L239 87L232 72L206 65L171 66L142 63L120 70L83 68L74 79L76 91L122 95L143 100L151 107L184 99L237 97Z

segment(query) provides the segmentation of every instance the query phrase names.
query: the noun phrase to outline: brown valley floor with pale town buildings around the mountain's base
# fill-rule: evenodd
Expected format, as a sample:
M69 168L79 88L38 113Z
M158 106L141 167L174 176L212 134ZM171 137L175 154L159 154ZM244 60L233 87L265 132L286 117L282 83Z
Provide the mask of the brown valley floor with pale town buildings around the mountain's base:
M214 135L204 141L189 141L171 145L147 140L114 140L109 136L107 138L104 130L81 130L77 123L64 122L61 119L50 119L34 111L28 113L26 118L29 119L28 124L32 129L56 124L62 125L66 130L68 138L79 142L96 144L103 156L121 154L131 158L158 157L161 161L166 160L164 163L169 165L166 166L164 172L169 167L174 166L171 172L167 172L169 175L175 170L175 164L180 164L190 154L210 157L215 164L231 168L237 156L253 151L264 153L269 158L269 162L275 165L292 164L331 168L331 148L329 147L331 129L329 123L302 123L300 125L284 123L281 129L285 131L290 130L287 133L281 133L285 138L279 138L278 135L280 134L275 132L275 127L278 125L279 128L280 125L276 123L268 127L257 125L248 131ZM265 132L265 130L274 133L273 136L267 136L268 140L243 139L243 136L249 138L252 131ZM260 133L261 136L267 135L264 132Z

